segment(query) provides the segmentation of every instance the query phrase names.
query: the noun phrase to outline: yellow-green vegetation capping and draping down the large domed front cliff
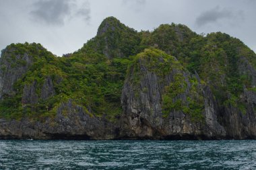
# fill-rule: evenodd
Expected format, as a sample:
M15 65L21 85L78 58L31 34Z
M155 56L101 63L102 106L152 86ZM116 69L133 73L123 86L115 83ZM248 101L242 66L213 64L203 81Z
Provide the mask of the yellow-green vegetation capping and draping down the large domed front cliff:
M158 76L158 83L165 84L162 91L164 118L168 117L170 112L180 111L189 114L193 121L203 121L204 101L201 91L197 88L199 82L195 77L186 75L188 72L179 61L156 48L146 48L132 58L127 77L131 77L129 82L133 85L136 97L139 97L139 91L148 92L146 87L140 87L143 77L155 73ZM169 75L172 75L172 81L166 84L166 77Z

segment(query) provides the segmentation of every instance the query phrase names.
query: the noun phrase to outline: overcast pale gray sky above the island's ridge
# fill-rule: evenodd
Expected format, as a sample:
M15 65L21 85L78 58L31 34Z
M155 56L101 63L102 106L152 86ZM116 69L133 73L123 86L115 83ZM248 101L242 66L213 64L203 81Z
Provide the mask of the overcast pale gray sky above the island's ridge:
M226 32L256 52L256 0L0 0L0 48L38 42L61 56L93 38L108 16L138 31L174 22L198 34Z

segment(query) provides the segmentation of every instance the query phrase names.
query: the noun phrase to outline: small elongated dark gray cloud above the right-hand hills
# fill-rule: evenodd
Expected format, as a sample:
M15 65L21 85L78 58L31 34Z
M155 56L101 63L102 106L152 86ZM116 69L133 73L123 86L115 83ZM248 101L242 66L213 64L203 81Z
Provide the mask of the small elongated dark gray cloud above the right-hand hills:
M221 9L219 6L214 7L208 11L201 13L195 20L198 27L205 26L206 24L213 24L222 19L243 19L243 11L230 11L229 9Z

